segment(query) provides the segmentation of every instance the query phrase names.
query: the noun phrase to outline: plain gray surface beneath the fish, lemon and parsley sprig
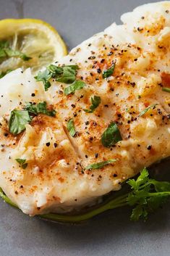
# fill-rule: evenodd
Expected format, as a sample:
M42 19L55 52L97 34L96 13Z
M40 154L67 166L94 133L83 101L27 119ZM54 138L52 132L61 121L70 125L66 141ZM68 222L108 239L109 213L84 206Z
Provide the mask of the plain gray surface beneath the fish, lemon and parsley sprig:
M147 0L0 0L0 18L41 18L54 25L69 49L119 22L122 13ZM17 4L16 4L17 3ZM17 8L16 8L17 7ZM170 207L147 223L131 223L127 209L114 210L83 226L29 218L0 202L0 256L168 256Z

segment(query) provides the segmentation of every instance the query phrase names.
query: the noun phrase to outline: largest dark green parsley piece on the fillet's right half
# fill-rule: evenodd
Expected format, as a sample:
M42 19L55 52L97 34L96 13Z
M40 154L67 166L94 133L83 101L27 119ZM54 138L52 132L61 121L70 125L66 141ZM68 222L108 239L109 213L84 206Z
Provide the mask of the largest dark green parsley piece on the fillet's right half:
M116 123L112 122L101 136L101 143L105 147L114 146L118 141L122 141L122 136Z

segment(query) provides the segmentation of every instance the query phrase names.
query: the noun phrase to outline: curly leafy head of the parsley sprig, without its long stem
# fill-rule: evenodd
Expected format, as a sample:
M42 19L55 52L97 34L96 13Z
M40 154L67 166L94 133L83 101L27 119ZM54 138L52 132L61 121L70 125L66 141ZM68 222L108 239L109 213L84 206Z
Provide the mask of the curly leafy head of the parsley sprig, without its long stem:
M135 206L132 210L131 220L146 220L150 212L155 212L170 196L170 183L150 179L145 168L140 176L127 181L133 189L127 196L128 205Z

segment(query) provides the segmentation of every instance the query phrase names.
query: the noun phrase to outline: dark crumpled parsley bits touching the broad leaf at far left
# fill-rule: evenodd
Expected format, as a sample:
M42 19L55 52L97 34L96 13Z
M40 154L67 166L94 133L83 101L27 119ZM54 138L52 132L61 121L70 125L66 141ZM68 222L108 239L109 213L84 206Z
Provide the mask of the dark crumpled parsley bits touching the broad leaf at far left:
M47 110L46 102L39 102L38 104L33 104L31 102L27 103L27 105L25 106L25 110L28 110L28 112L33 115L38 115L40 113L51 117L54 117L56 115L55 110Z

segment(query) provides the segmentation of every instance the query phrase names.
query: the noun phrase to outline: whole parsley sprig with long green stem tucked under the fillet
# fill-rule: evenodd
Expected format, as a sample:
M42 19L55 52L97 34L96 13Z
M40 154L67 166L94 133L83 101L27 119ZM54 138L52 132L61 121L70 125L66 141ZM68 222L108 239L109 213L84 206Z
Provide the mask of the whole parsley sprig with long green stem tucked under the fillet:
M132 210L131 220L147 220L151 212L155 212L170 197L170 182L156 181L148 176L148 170L145 168L141 171L140 176L127 181L132 191L127 194L116 197L104 205L79 215L61 215L56 213L48 213L40 215L41 218L54 220L64 223L80 223L81 221L93 218L106 210L115 209L123 206L134 207ZM9 205L17 207L0 189L0 196Z

